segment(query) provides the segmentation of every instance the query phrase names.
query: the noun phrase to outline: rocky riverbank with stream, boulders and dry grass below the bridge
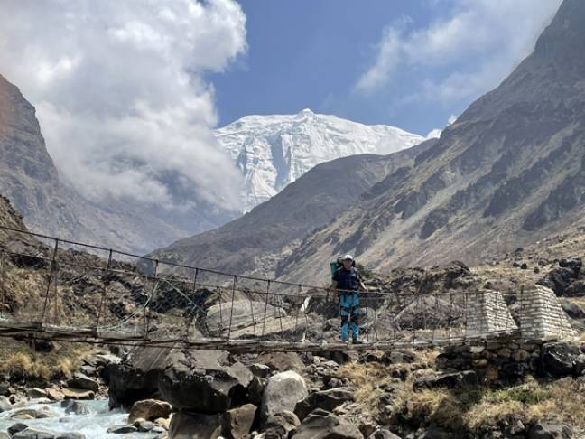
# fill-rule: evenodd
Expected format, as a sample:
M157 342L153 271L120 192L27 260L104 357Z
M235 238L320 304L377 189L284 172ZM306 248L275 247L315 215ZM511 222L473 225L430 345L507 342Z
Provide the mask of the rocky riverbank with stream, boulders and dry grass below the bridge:
M1 378L0 439L584 437L585 346L544 343L518 374L514 356L500 359L493 344L441 353L91 350L69 378ZM463 368L463 357L502 366L490 378Z

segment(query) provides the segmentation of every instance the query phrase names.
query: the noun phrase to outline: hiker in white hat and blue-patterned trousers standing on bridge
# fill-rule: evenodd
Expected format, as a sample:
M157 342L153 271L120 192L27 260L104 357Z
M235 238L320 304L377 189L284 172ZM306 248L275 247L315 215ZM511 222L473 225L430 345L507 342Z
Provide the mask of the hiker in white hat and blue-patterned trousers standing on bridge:
M354 343L359 343L359 290L366 291L366 285L359 276L356 261L351 255L339 257L335 263L331 263L331 271L331 288L338 290L341 340L348 341L348 330L351 326L351 338Z

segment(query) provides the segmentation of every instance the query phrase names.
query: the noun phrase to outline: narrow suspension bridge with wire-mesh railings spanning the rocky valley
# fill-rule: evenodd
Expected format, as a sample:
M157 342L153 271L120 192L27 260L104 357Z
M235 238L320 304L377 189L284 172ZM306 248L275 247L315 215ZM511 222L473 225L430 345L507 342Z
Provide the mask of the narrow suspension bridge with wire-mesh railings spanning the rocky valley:
M338 292L237 276L0 226L0 337L229 351L392 350L519 332L524 290L361 293L362 342L339 341ZM532 296L530 296L532 297ZM526 310L526 315L523 315ZM532 314L531 314L532 315Z

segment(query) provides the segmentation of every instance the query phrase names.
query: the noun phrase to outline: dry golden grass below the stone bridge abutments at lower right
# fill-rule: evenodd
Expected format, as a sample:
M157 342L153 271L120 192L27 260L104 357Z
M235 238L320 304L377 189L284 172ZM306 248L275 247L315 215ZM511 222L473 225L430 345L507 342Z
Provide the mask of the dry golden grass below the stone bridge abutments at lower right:
M395 366L395 365L393 365ZM348 364L340 372L356 386L357 402L376 413L385 385L391 386L395 417L390 423L439 425L453 432L485 433L494 425L525 425L536 419L552 418L575 426L585 426L585 380L563 378L539 382L528 378L524 384L491 389L471 387L413 391L418 373L405 381L392 378L393 366ZM422 363L422 366L424 364Z

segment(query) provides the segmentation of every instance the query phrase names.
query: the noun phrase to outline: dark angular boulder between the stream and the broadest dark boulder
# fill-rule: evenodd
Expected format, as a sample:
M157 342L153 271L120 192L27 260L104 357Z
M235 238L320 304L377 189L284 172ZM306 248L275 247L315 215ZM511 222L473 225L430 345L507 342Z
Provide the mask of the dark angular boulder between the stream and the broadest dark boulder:
M171 352L170 348L135 348L122 362L108 364L110 408L128 408L141 399L156 398L159 376Z

